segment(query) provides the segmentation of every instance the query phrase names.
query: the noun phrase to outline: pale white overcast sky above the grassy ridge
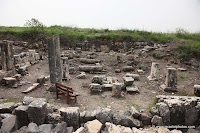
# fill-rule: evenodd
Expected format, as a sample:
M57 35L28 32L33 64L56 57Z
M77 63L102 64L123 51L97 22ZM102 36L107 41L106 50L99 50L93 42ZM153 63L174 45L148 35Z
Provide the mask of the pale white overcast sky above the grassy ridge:
M0 25L200 32L200 0L0 0Z

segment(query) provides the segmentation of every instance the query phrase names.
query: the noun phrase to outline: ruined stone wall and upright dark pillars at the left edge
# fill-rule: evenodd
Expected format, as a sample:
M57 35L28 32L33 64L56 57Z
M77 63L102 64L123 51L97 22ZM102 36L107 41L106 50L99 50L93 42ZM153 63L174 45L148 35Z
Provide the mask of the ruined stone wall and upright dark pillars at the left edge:
M1 66L0 82L8 87L17 88L21 76L27 74L28 67L39 63L41 56L35 50L14 55L14 41L0 41Z

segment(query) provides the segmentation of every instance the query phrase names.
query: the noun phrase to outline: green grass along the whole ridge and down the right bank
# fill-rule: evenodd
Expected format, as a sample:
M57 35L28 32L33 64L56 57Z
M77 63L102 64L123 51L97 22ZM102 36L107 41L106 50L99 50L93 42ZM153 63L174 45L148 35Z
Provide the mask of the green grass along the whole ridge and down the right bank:
M24 40L45 40L50 35L60 35L64 43L76 43L84 40L111 40L115 41L147 41L150 43L168 43L176 41L181 43L178 47L178 57L187 59L200 56L200 33L189 33L183 29L177 29L176 33L156 33L139 30L109 30L72 28L54 25L50 27L5 27L0 26L0 37L14 35ZM156 59L162 59L156 53L152 53Z

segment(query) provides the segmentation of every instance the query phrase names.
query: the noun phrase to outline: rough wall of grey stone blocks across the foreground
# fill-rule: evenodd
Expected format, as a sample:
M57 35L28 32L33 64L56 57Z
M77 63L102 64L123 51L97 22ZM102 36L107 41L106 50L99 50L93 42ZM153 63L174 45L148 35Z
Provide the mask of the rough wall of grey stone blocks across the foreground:
M0 132L27 133L182 133L198 132L200 98L158 95L158 102L150 111L130 107L128 110L101 108L80 111L79 107L51 105L44 98L24 97L22 103L0 104ZM159 128L149 128L149 126ZM139 129L138 129L139 128ZM167 129L169 128L169 129Z

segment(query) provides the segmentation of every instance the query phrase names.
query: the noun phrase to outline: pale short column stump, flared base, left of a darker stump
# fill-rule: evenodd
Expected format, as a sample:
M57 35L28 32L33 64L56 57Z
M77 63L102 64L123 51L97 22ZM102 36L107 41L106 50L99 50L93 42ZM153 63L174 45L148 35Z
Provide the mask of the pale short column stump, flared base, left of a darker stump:
M149 80L157 80L159 76L158 73L159 73L159 63L152 62L151 73L147 78Z

